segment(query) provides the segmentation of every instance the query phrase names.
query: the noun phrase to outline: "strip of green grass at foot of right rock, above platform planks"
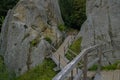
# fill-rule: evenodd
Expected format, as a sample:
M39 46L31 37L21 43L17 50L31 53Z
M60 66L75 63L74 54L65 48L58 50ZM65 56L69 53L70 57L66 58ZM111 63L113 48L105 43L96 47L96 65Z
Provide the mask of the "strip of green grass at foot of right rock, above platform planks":
M90 71L95 71L97 70L98 65L93 65L89 70ZM102 70L116 70L119 69L120 70L120 61L116 61L114 64L111 65L107 65L107 66L102 66Z

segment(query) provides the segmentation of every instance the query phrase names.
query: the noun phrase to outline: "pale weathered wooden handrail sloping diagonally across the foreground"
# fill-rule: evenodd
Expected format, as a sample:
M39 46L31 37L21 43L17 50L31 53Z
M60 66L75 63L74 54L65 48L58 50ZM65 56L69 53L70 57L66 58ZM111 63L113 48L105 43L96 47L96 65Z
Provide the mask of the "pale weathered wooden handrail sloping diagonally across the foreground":
M100 45L95 45L82 50L82 52L80 52L77 57L75 57L69 64L67 64L52 80L64 80L65 77L76 67L84 55L90 53L99 46Z

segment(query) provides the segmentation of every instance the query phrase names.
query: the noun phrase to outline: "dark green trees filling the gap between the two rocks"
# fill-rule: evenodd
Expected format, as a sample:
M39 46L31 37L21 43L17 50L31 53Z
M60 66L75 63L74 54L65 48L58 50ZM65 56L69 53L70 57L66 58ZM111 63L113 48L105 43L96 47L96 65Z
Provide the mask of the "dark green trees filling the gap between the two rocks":
M86 20L86 0L59 0L65 25L80 29Z

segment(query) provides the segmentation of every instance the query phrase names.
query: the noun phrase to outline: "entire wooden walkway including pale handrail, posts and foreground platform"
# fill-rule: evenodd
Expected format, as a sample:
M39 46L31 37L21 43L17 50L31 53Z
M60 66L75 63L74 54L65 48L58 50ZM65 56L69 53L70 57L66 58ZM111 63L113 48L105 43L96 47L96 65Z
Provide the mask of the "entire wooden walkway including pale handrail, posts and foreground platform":
M69 45L75 40L74 36L68 36L63 44L56 50L51 58L57 64L57 67L61 71L52 80L89 80L88 69L98 63L98 69L94 72L94 78L92 80L120 80L120 70L116 71L101 71L101 47L105 44L99 44L90 46L82 50L71 62L65 57L65 53L69 50ZM94 61L88 63L87 55L92 51L97 50L98 57ZM78 68L78 63L83 59L83 68ZM88 74L88 75L87 75Z

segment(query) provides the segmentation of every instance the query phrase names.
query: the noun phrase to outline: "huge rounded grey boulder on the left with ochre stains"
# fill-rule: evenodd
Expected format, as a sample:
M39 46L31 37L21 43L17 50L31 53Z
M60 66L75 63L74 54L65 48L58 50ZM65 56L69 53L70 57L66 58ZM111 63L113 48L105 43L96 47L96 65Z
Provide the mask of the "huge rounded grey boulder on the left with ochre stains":
M50 38L62 39L57 25L63 24L57 0L20 0L8 12L2 26L0 51L5 64L17 75L40 64L49 54Z

